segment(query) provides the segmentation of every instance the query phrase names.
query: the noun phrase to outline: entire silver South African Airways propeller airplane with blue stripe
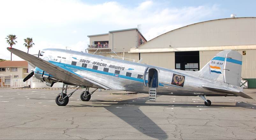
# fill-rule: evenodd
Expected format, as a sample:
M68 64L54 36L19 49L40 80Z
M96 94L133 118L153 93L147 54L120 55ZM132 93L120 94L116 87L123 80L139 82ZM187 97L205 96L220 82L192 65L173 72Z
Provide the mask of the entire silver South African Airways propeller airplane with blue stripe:
M59 106L67 105L78 88L85 88L80 94L82 101L89 101L98 88L148 93L149 101L156 101L157 94L199 96L206 106L211 101L205 96L253 99L240 87L242 55L233 50L218 53L199 71L166 69L64 49L44 49L38 57L11 47L7 50L35 66L23 81L35 75L50 87L63 83L62 92L55 98ZM67 94L68 85L77 88ZM89 93L89 88L96 89Z

